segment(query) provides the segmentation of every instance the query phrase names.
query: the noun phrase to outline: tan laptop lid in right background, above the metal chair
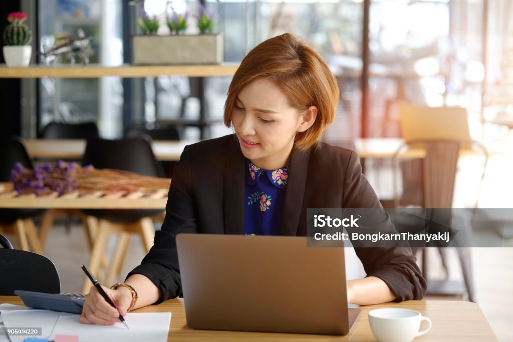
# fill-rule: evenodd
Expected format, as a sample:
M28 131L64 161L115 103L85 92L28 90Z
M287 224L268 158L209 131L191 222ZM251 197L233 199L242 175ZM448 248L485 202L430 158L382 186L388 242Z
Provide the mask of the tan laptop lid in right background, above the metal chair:
M460 140L469 142L467 110L462 107L427 107L399 104L401 133L412 140Z

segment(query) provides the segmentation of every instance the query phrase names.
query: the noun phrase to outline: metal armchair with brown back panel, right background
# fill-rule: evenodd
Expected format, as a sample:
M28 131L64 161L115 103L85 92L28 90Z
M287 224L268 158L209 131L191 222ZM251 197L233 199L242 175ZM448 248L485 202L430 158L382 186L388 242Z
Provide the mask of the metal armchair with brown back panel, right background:
M463 144L468 146L475 146L483 151L483 155L485 156L485 162L483 167L483 173L481 175L481 180L484 178L486 164L488 161L488 153L483 145L477 142L459 142L458 140L413 140L401 146L396 153L394 154L393 160L393 191L394 191L394 200L395 207L399 208L400 205L403 204L400 196L397 191L397 180L396 175L399 169L399 161L400 161L400 153L407 147L411 146L419 146L422 145L425 149L426 155L423 160L423 168L422 174L419 175L421 179L423 179L422 186L422 207L423 208L452 208L452 197L454 193L455 180L456 180L456 171L458 164L458 156L460 152L460 146ZM477 199L476 199L476 207L477 207ZM442 212L442 211L440 211ZM448 213L448 214L447 214ZM446 225L451 225L451 220L453 219L450 210L443 213L446 217L443 218L443 221L446 222ZM460 218L461 219L461 218ZM459 234L466 234L462 237L463 239L469 240L468 235L471 234L470 229L461 230ZM461 236L460 236L461 238ZM427 276L427 248L422 249L423 257L422 257L422 272L424 276ZM412 248L414 254L416 254L419 249ZM446 255L445 249L443 247L439 247L438 251L442 257L442 264L444 270L447 275L447 263L446 263ZM463 279L466 287L466 291L468 293L468 298L470 301L475 301L475 291L472 280L472 266L470 259L470 249L467 246L462 246L456 248L458 253L460 264L463 273ZM428 279L426 279L428 280ZM447 281L440 283L436 281L428 280L428 294L449 294L446 289L454 288L455 286L447 286Z

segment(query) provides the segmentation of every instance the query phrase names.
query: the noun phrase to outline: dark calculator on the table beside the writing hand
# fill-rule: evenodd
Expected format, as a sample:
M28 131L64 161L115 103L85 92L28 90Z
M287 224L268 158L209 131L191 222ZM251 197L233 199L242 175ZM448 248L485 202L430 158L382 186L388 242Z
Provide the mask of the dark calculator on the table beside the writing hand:
M43 293L16 290L14 294L22 298L23 303L34 309L45 309L70 313L82 313L85 294L81 293Z

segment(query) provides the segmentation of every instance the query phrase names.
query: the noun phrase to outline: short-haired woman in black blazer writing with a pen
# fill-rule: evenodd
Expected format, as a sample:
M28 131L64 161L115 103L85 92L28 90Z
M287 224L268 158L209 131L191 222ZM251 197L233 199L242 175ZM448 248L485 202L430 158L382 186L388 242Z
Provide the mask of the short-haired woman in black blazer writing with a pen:
M178 233L304 236L307 208L380 208L356 153L318 142L338 102L328 66L294 36L250 51L225 104L235 134L184 149L154 246L125 284L106 289L119 312L92 288L81 322L111 325L119 313L179 296ZM356 251L367 277L347 281L350 303L422 299L426 282L409 248Z

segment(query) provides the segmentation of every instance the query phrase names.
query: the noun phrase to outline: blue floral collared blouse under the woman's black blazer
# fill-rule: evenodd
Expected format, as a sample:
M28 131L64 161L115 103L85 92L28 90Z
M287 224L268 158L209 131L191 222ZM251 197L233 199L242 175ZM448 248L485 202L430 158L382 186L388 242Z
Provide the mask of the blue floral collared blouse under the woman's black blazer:
M264 170L246 159L246 206L244 232L246 235L280 235L285 187L289 166Z

